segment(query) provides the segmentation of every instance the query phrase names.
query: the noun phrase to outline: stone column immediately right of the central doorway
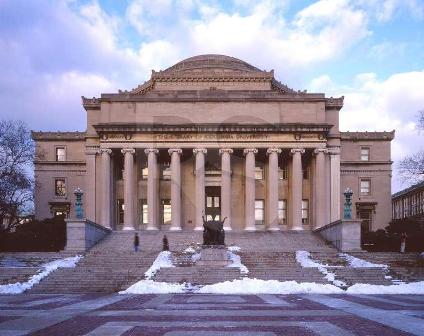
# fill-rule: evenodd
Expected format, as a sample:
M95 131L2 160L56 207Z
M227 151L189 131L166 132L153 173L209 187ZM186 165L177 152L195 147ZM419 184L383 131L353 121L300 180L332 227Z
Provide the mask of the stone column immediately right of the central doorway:
M221 220L224 222L224 230L231 231L231 148L221 148Z

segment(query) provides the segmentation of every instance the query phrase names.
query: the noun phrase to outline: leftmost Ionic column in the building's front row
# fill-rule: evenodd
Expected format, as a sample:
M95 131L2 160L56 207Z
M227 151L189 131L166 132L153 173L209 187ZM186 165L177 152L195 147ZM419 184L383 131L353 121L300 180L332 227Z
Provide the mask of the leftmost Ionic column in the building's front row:
M101 148L100 155L102 157L102 196L101 196L101 214L100 214L100 223L104 227L111 228L110 225L110 213L111 213L111 185L110 185L110 175L111 175L111 165L110 165L110 155L112 150L109 148ZM94 179L94 178L93 178Z

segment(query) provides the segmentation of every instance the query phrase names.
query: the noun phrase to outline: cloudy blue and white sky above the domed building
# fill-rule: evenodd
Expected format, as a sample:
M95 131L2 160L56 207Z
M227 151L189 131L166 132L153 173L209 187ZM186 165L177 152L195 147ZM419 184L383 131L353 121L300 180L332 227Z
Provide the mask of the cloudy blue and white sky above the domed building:
M218 53L344 95L341 129L396 129L396 162L424 146L423 36L423 0L0 0L0 116L84 130L82 95Z

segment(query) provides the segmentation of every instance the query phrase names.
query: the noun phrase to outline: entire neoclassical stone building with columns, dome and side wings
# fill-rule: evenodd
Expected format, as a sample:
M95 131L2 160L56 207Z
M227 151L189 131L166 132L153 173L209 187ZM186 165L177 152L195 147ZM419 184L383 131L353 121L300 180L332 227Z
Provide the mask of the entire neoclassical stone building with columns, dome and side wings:
M33 132L36 217L115 230L311 230L354 191L364 229L390 220L393 132L340 132L343 97L294 91L239 59L202 55L131 91L82 98L86 132Z

